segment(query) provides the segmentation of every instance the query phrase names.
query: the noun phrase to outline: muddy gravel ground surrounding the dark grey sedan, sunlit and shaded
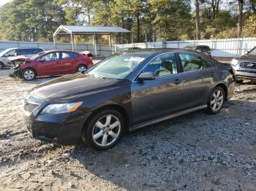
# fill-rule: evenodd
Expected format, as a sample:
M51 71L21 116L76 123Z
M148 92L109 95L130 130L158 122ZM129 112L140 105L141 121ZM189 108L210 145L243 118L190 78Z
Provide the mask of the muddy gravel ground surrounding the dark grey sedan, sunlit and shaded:
M105 152L31 139L23 82L0 70L0 190L256 190L256 84L222 111L194 112L127 133Z

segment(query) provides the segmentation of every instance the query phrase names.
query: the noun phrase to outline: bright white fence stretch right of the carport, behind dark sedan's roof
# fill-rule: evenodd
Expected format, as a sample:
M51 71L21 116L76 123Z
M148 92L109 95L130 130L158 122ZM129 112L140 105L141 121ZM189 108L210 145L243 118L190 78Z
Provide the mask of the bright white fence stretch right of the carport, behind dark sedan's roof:
M214 57L237 57L256 46L256 38L241 39L210 39L210 40L187 40L168 42L144 42L134 44L118 44L117 50L128 47L140 48L184 48L187 45L208 45L213 50Z

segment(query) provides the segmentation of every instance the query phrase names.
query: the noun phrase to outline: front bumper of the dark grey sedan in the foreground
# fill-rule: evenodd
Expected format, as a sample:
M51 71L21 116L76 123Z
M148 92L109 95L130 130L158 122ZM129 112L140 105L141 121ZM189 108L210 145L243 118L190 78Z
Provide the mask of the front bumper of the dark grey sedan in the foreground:
M33 98L29 95L29 98ZM38 100L37 100L38 101ZM28 101L29 102L29 101ZM31 101L30 103L34 103ZM84 117L79 112L66 114L40 114L48 105L42 101L33 112L23 108L23 119L26 128L34 139L52 142L55 144L78 144L84 124Z

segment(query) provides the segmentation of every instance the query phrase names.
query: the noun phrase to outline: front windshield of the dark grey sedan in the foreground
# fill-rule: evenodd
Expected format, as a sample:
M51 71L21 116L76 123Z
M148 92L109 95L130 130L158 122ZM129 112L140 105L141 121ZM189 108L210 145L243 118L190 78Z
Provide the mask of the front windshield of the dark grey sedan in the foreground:
M89 69L87 74L124 79L127 77L145 58L149 52L116 53L106 58Z

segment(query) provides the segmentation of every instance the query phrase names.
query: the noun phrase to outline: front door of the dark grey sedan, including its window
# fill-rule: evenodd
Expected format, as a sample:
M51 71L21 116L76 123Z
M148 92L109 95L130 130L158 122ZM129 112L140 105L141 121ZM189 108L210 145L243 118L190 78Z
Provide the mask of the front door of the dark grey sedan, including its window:
M142 72L153 72L154 80L132 82L132 115L134 124L163 117L181 109L182 74L173 52L158 55Z

